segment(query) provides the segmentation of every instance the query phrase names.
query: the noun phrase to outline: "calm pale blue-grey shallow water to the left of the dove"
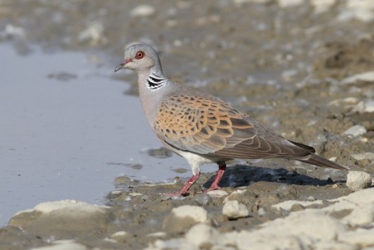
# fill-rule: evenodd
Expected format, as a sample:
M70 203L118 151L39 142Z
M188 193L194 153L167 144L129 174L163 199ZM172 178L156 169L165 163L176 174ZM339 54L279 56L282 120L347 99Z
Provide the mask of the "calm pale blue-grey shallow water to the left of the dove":
M155 158L161 145L143 117L137 97L111 79L88 55L18 55L0 45L0 225L42 201L77 199L103 203L114 179L126 175L150 182L188 177L177 155ZM157 166L157 168L155 168ZM186 168L186 173L175 173ZM214 171L215 166L205 168Z

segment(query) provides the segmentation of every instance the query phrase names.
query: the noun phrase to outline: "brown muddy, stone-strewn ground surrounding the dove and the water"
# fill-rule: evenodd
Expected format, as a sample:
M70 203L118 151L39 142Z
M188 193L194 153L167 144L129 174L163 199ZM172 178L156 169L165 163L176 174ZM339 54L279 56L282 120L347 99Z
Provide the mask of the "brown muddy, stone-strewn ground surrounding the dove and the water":
M352 170L373 174L374 74L367 72L374 68L374 2L353 2L1 1L0 40L25 54L34 44L46 51L100 51L113 68L122 60L124 45L147 42L160 51L164 72L174 81L219 96L286 138L311 145ZM128 94L137 95L135 74L114 77L134 83ZM288 240L288 245L274 245L274 236L259 231L265 239L261 247L267 247L262 249L374 246L373 240L355 238L373 235L374 201L349 196L347 172L286 160L230 166L221 182L227 194L220 197L201 193L214 173L204 173L190 196L180 199L162 193L177 190L182 180L154 185L119 177L116 190L105 197L108 207L64 201L53 209L44 205L14 216L0 229L0 249L245 249L230 237L243 234L258 247L253 232L261 225L277 228L277 223L295 223L297 216L305 216L306 226L308 216L330 220L321 230L331 227L334 235L303 237L290 230L297 244ZM225 197L233 192L230 199L245 206L246 216L223 214ZM373 197L364 191L351 195L356 194ZM310 203L276 206L288 200ZM368 219L353 223L350 214L360 204L369 204ZM171 210L182 205L203 208L207 219L176 218ZM209 227L196 229L196 223ZM300 221L295 225L304 230ZM199 230L215 240L192 244ZM347 243L345 236L355 240Z

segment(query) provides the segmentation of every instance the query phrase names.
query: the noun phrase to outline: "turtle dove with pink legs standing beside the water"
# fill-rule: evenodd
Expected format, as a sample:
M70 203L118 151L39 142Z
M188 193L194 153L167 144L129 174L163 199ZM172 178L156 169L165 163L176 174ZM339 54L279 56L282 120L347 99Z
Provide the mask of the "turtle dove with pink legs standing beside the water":
M200 176L202 164L219 166L212 185L219 190L226 162L233 159L285 158L316 166L349 169L315 153L313 147L287 140L248 114L205 92L177 84L167 78L158 52L145 44L130 45L123 68L138 73L142 109L155 136L171 151L187 160L192 177L171 196L185 196Z

